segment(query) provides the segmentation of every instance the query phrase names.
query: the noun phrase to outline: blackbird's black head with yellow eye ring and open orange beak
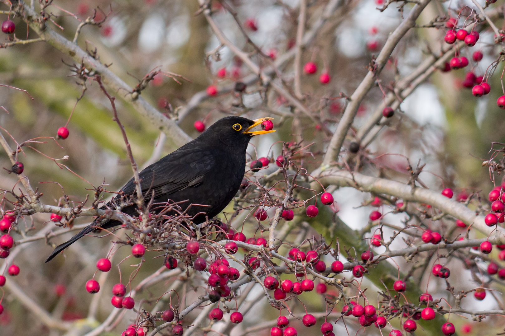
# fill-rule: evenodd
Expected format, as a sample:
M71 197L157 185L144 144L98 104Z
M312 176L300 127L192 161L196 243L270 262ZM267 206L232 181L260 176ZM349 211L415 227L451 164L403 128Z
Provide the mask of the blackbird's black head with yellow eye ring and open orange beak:
M240 146L249 143L250 138L258 136L261 134L275 132L275 130L254 130L253 128L260 125L265 120L271 120L273 118L260 118L256 120L250 120L243 117L228 116L219 119L213 123L201 136L216 136L225 145Z

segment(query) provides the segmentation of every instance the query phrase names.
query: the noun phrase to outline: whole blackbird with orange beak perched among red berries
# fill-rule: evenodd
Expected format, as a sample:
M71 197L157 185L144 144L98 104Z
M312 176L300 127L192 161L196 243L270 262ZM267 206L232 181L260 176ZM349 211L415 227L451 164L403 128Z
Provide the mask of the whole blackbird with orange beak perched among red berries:
M172 202L185 201L179 204L183 210L191 204L205 205L187 209L188 215L195 216L195 224L205 222L206 216L213 218L219 214L240 187L249 140L253 136L274 131L251 130L268 119L272 118L250 120L228 116L219 119L198 138L142 170L138 175L145 204L153 198L153 203L158 204L166 204L169 199ZM133 177L121 191L125 196L135 196ZM114 209L120 201L121 196L117 195L102 209ZM137 206L127 206L122 212L135 216ZM198 214L201 212L205 214ZM100 222L96 219L70 240L57 246L45 262L97 227L108 229L120 224L116 220Z

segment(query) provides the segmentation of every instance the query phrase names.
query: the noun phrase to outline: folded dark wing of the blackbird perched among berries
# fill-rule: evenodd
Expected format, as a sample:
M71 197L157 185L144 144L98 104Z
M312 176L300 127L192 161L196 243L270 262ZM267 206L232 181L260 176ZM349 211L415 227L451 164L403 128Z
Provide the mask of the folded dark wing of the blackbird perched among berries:
M201 183L205 175L215 166L216 161L210 151L201 149L179 149L158 162L148 166L138 175L141 179L142 194L154 198L171 194ZM131 178L121 190L126 195L135 193L135 182Z

